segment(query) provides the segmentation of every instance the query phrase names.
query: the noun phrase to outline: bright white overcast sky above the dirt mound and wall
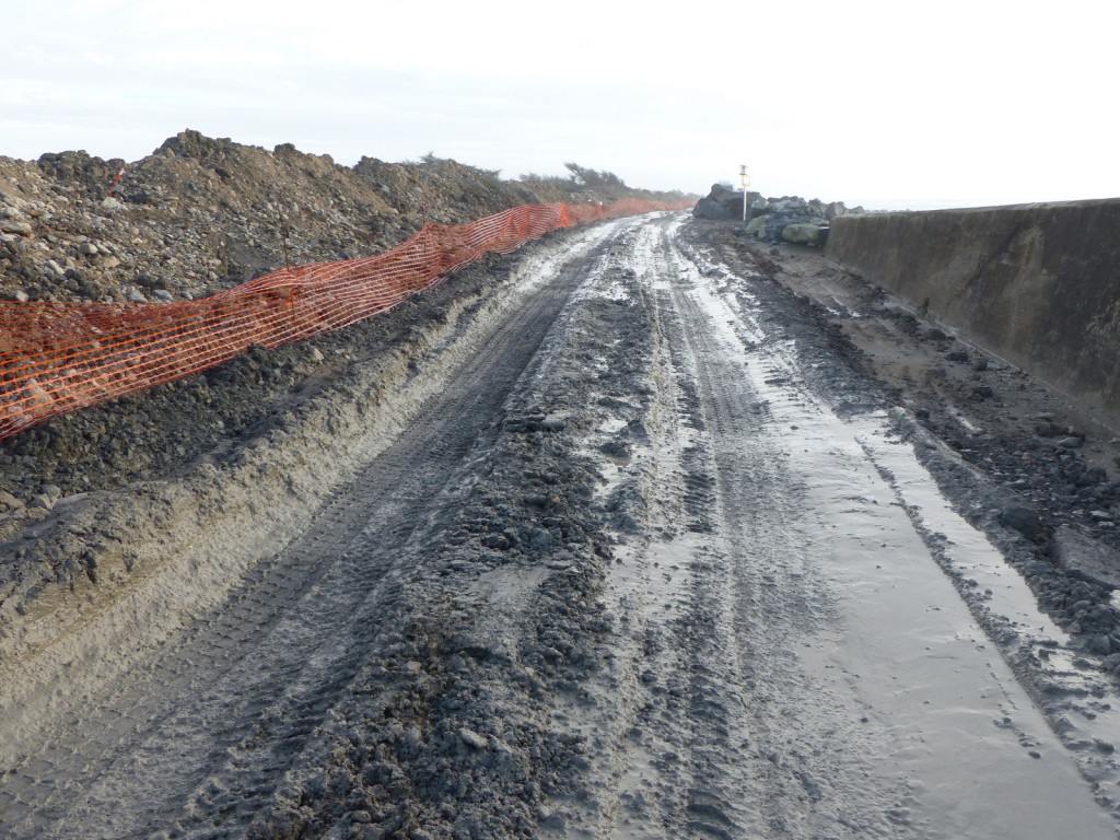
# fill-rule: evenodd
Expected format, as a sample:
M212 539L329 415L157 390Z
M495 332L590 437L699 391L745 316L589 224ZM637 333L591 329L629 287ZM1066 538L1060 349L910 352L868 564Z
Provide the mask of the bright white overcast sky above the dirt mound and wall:
M670 8L673 11L659 11ZM1120 196L1120 3L9 0L0 155L190 128L868 208Z

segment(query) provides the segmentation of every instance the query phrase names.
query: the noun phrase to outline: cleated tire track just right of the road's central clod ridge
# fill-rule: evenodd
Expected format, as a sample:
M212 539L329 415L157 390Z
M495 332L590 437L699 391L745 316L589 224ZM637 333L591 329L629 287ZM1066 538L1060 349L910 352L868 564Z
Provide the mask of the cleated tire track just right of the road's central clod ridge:
M824 794L814 777L820 769L791 760L785 748L790 708L775 709L778 702L788 707L785 698L804 696L783 647L821 612L797 547L785 542L796 487L788 485L782 452L754 437L769 419L767 407L747 384L741 363L717 346L712 325L691 297L696 269L668 232L660 237L648 250L659 332L675 372L680 427L696 430L679 452L682 502L690 514L704 513L703 528L690 522L701 539L645 549L683 554L689 568L682 614L662 631L678 654L659 669L670 696L675 689L689 698L684 709L663 703L662 727L678 730L670 744L684 745L687 755L676 768L654 762L661 778L646 799L662 805L656 822L675 823L682 836L800 837L791 823L813 810L806 802ZM699 496L697 487L703 488ZM671 510L661 516L666 514ZM674 786L684 794L666 796ZM614 833L656 837L659 829L646 834L628 819Z

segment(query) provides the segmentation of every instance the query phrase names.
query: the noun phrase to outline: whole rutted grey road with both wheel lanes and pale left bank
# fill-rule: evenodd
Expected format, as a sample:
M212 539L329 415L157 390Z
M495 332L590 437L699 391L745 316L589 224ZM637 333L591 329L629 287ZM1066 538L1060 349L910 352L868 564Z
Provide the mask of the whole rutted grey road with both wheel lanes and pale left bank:
M1111 687L1061 682L796 298L673 215L516 260L375 409L306 420L337 463L239 456L250 519L311 510L172 519L4 663L2 836L1117 836Z

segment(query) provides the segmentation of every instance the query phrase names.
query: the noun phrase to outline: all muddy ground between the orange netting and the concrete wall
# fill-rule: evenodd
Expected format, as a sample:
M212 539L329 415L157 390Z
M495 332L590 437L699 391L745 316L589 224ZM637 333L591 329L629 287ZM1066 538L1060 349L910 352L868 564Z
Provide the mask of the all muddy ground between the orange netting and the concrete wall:
M2 833L1114 837L1105 427L935 328L665 214L7 441Z

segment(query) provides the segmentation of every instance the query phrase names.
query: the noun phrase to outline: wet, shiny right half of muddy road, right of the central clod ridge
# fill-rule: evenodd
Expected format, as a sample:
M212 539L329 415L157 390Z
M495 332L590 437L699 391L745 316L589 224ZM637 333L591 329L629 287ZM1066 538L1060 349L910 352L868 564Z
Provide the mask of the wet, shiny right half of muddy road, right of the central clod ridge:
M815 327L799 324L796 301L767 296L749 276L706 262L676 237L676 227L646 225L628 243L638 274L631 295L644 301L656 348L652 400L638 417L620 411L615 420L641 422L650 432L646 445L634 447L617 494L642 498L644 507L637 529L618 532L619 563L606 596L619 628L615 655L589 689L599 710L577 727L597 734L589 772L596 793L582 805L567 803L568 820L609 838L949 838L970 824L992 837L1046 837L1052 814L1025 816L1021 802L1011 803L1017 785L1055 784L1071 803L1060 821L1076 820L1101 836L1103 814L1071 778L1070 763L1056 757L1052 771L1037 773L1035 765L1014 764L1042 743L1045 725L1029 717L1029 701L1012 691L998 655L965 655L982 632L953 625L967 620L967 608L905 512L894 507L895 494L866 447L849 440L858 432L830 408L866 413L878 404L875 394L841 373L819 346ZM767 306L774 311L760 308ZM801 418L812 427L804 441ZM797 452L803 442L820 447L813 436L833 431L836 442L825 439L820 461L828 473L822 488L813 456ZM837 475L843 477L833 489ZM814 510L822 501L824 511ZM834 505L841 515L830 520ZM830 530L846 526L855 533ZM842 545L840 560L853 550L861 563L872 558L870 579L849 580L851 572L828 566L836 562L833 542ZM923 567L915 575L918 600L885 597L883 606L868 605L875 617L865 622L842 588L878 591L876 569L916 572L912 564ZM894 573L884 573L888 589L911 586L892 584ZM903 678L889 668L876 668L870 679L849 670L849 662L861 669L872 662L866 650L844 652L848 625L857 625L859 644L868 644L870 633L871 648L884 633L908 638L914 616L899 615L899 607L961 616L944 625L931 619L937 629L915 636L911 647L908 641L883 646L893 664L903 657L896 673L978 692L977 708L965 704L972 721L1016 719L1001 725L1014 731L1000 736L998 758L980 750L1015 781L983 773L970 786L983 793L970 790L961 796L967 803L939 799L942 787L954 791L950 796L963 793L954 739L943 737L939 720L955 713L964 694L927 711L911 699L932 691L924 683L900 689L892 681ZM884 615L896 623L876 624ZM946 634L952 641L941 652ZM972 651L984 648L976 643ZM958 657L969 664L952 673L969 674L965 680L943 668ZM928 665L912 668L923 660ZM1030 722L1019 728L1020 718ZM927 737L940 746L926 747ZM995 740L983 731L969 737ZM1046 743L1054 748L1053 738ZM979 822L961 815L970 810Z

